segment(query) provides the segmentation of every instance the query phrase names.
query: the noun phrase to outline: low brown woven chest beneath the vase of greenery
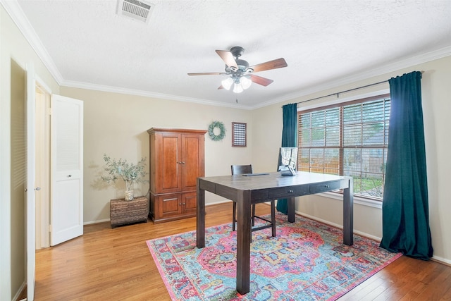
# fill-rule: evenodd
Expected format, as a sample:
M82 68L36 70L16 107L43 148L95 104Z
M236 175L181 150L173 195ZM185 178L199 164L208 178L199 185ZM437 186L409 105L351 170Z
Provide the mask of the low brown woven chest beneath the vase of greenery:
M149 214L149 200L147 197L135 197L131 201L124 199L111 199L110 201L110 221L111 228L129 223L147 223Z

